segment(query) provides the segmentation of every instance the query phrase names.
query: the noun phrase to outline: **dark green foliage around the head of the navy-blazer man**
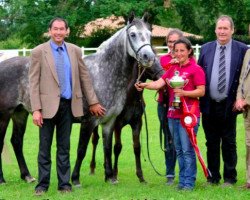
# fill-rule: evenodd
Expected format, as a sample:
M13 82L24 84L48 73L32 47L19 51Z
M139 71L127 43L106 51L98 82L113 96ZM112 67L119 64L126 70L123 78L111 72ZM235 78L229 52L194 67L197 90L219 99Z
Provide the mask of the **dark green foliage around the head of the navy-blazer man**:
M184 31L215 39L215 22L220 15L229 15L235 23L235 34L247 35L250 24L250 3L247 0L173 0L181 16ZM237 8L237 9L235 9Z

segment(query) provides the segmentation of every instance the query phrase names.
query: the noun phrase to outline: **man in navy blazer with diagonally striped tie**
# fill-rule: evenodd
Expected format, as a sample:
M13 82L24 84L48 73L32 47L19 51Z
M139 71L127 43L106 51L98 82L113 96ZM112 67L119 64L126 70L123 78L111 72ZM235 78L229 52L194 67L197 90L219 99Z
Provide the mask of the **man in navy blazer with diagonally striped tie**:
M223 15L217 19L217 40L201 47L198 64L206 73L206 94L200 99L202 125L206 135L208 183L218 184L220 145L224 161L224 186L237 181L236 117L233 111L241 66L247 45L232 39L234 23Z

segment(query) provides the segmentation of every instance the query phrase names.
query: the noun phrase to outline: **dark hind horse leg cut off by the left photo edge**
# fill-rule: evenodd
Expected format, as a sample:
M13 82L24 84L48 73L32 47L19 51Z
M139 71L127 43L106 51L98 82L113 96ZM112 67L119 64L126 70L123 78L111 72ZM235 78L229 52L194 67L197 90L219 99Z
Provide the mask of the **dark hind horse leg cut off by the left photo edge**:
M6 135L6 130L10 121L9 115L0 114L0 184L5 183L5 179L3 177L3 169L2 169L2 151L4 145L4 137Z

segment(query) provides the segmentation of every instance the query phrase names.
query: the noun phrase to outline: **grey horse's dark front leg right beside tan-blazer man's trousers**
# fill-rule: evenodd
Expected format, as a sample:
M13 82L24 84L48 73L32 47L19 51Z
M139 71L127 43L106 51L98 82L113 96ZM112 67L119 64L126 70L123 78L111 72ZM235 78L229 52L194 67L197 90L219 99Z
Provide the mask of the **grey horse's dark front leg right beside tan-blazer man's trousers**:
M83 122L84 123L84 122ZM80 169L82 165L82 161L86 156L86 151L89 143L89 139L91 137L92 130L94 128L90 128L91 125L89 124L81 124L80 129L80 137L78 142L78 148L77 148L77 158L74 166L74 170L71 175L71 181L72 184L76 187L80 187Z

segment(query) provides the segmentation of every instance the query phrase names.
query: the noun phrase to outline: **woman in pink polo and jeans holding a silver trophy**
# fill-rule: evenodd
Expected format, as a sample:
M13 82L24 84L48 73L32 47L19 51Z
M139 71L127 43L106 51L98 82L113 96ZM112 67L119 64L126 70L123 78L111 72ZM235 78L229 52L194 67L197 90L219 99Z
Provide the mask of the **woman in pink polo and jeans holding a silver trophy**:
M186 129L181 124L182 106L173 107L172 102L175 96L180 96L185 99L189 109L194 102L199 105L198 98L205 94L205 74L193 59L193 49L188 39L181 38L174 43L174 55L179 63L172 65L160 79L147 83L136 83L135 87L138 91L142 91L143 88L158 90L167 85L167 81L175 75L176 71L179 72L179 76L187 80L187 84L181 89L167 87L169 94L168 124L179 163L178 189L192 190L197 174L196 156ZM196 107L194 114L198 119L198 124L194 127L194 132L197 134L200 119L199 106Z

